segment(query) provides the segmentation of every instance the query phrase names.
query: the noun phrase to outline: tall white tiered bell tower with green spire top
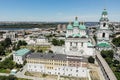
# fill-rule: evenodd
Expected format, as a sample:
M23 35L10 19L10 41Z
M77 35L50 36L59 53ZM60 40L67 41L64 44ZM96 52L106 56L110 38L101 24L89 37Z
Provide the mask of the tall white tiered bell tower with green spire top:
M108 43L110 40L110 33L108 12L104 9L99 20L99 28L97 30L97 47L99 50L110 49L110 44Z

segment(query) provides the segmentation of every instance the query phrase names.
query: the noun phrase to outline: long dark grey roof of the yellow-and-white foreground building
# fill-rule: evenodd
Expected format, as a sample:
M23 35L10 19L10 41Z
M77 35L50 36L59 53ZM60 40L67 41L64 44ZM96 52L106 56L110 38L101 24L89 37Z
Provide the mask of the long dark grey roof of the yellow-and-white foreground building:
M72 60L72 61L81 61L81 56L67 56L65 54L55 54L55 53L32 53L27 56L27 58L33 59L47 59L47 60ZM82 61L87 61L87 58L82 59Z

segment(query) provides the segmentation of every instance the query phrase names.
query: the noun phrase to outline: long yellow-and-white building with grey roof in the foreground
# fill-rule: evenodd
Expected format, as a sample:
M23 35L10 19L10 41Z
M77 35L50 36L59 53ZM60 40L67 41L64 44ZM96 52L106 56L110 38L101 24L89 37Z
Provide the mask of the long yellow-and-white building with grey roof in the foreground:
M87 58L65 54L32 53L27 56L27 71L50 75L88 77Z

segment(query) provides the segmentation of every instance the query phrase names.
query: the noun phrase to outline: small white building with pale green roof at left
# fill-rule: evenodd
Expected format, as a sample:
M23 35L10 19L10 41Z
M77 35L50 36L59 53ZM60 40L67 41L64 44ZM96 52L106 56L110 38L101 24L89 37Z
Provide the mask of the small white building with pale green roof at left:
M16 52L13 53L13 61L18 63L18 64L23 64L25 61L25 57L27 54L30 54L30 50L28 49L20 49Z

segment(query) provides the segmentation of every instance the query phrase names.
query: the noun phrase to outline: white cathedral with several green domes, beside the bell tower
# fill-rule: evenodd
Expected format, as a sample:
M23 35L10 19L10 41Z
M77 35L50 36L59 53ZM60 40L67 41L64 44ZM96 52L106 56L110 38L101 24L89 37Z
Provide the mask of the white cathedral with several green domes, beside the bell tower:
M86 26L83 22L79 23L77 17L67 26L64 53L75 56L95 55L94 45L87 34Z

